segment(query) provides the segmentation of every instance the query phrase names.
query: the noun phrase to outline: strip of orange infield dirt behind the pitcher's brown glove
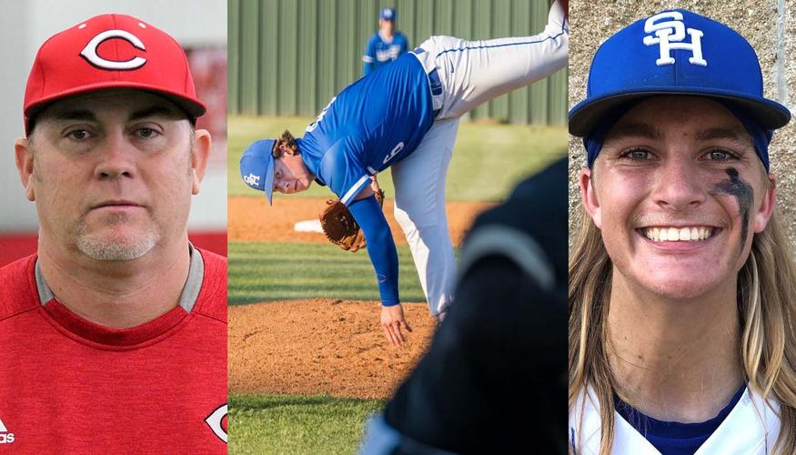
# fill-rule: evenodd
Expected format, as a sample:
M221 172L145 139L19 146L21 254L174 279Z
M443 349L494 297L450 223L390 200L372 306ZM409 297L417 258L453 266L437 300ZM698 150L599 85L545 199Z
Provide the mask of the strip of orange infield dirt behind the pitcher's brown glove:
M326 207L326 198L274 197L274 205L268 206L265 197L229 197L227 199L230 241L272 241L298 243L327 243L327 238L317 232L296 232L299 221L317 219ZM460 245L467 229L483 210L494 207L493 202L448 202L448 229L454 245ZM393 217L393 200L384 201L384 215L398 245L406 245L407 239L398 221Z

